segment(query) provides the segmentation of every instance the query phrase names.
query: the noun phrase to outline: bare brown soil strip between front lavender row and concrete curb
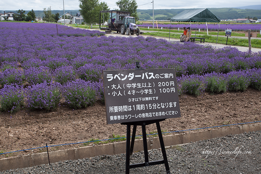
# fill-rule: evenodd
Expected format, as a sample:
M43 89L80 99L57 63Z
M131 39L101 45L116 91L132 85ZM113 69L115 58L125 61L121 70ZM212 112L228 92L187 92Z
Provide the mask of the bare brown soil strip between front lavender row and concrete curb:
M261 91L251 88L245 92L227 92L218 95L204 93L199 97L181 95L179 102L181 118L171 118L160 122L162 132L261 121ZM207 129L184 132L191 133ZM62 105L52 112L26 109L13 115L3 112L0 113L0 130L0 153L23 150L2 154L0 158L44 152L46 143L48 146L62 145L49 147L49 151L56 151L96 145L95 143L63 144L86 142L91 139L104 140L112 138L113 134L126 136L126 125L107 125L105 105L100 103L79 110L72 110ZM146 131L147 133L157 132L156 124L146 126ZM177 134L177 132L168 134ZM136 135L142 135L141 126L137 127Z

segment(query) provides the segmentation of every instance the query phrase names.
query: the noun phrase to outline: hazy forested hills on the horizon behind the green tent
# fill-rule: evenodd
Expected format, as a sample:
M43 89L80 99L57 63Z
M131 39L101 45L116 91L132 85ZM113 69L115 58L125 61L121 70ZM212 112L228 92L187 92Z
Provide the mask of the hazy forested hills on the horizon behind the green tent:
M260 5L261 6L261 5ZM155 20L169 20L171 17L181 13L184 10L196 9L154 9ZM253 9L239 9L239 8L208 8L218 18L226 19L239 19L239 18L254 18L261 19L261 10ZM142 20L152 20L152 9L150 10L137 10L139 18Z

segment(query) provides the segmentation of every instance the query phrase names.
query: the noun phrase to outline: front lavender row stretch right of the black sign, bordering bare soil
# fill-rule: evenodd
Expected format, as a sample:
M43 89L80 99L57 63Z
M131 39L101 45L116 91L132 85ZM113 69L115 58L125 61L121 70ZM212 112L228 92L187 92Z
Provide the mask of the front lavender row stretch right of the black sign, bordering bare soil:
M198 96L205 91L224 93L226 91L245 91L248 87L261 90L261 69L238 70L223 73L207 73L205 75L182 75L177 77L179 94Z

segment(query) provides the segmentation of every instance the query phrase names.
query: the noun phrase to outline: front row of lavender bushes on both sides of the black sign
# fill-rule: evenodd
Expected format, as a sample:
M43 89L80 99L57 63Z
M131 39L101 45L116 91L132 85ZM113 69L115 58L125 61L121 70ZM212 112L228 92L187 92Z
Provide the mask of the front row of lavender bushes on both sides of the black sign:
M227 74L182 75L177 77L179 95L200 95L205 91L224 93L244 91L247 87L261 90L261 69L233 71ZM54 110L61 102L73 109L88 107L95 101L104 101L103 83L76 79L61 85L47 83L23 88L17 84L4 85L0 90L0 110L17 112L23 106L30 109Z

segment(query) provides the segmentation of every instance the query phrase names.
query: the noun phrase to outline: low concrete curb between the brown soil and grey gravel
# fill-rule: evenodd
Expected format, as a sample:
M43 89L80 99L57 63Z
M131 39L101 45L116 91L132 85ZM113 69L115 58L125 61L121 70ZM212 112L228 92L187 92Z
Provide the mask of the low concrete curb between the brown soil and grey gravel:
M189 142L195 142L215 137L223 137L229 134L240 134L244 132L252 132L261 130L261 123L236 126L223 129L205 130L195 133L184 133L176 135L167 135L163 137L164 145L180 145ZM159 139L147 138L148 150L160 148ZM143 141L135 140L134 152L143 150ZM76 149L61 150L49 152L50 162L55 163L63 160L77 160L82 158L90 158L99 155L114 155L126 153L126 142L110 143L99 146L88 146ZM30 154L23 157L3 158L0 159L0 172L15 169L32 167L40 164L48 164L47 152Z

